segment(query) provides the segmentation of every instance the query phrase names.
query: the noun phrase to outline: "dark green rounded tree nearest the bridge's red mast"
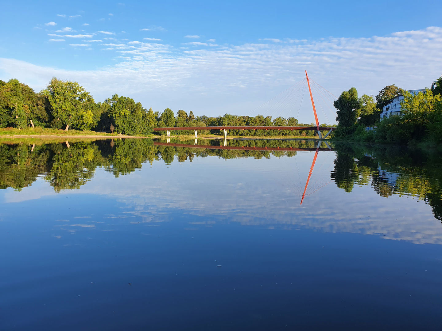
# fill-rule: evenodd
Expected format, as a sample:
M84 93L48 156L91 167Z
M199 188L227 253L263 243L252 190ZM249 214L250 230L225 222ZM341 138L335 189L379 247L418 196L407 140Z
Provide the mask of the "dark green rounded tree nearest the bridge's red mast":
M362 100L358 98L358 90L356 90L355 87L351 87L348 91L343 91L338 100L333 102L333 105L338 109L336 112L336 120L339 126L349 128L356 124L362 106Z

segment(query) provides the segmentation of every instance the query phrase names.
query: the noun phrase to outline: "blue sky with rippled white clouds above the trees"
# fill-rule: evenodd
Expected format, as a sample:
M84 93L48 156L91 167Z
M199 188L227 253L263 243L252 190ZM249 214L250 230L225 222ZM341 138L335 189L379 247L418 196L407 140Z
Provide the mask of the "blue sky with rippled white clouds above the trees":
M96 102L118 94L160 112L256 115L305 70L334 95L431 87L441 17L440 1L10 1L0 79L39 91L55 76ZM280 115L312 122L306 100ZM333 124L327 107L320 122Z

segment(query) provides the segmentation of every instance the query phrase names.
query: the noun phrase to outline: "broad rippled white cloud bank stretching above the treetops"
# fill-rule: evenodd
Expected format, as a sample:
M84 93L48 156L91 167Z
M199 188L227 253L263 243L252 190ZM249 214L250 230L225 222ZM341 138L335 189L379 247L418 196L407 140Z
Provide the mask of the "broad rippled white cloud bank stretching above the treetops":
M110 45L126 47L117 42ZM442 72L439 27L384 37L247 43L217 49L155 43L114 47L108 50L121 56L117 57L121 62L99 70L60 70L0 59L0 79L16 77L39 90L56 76L79 81L97 100L108 98L112 90L157 110L187 107L194 113L217 116L225 109L237 114L255 109L303 79L304 70L335 95L352 86L369 95L390 84L404 89L430 87ZM305 100L304 104L308 105ZM332 120L332 115L327 116ZM299 120L312 122L310 117Z

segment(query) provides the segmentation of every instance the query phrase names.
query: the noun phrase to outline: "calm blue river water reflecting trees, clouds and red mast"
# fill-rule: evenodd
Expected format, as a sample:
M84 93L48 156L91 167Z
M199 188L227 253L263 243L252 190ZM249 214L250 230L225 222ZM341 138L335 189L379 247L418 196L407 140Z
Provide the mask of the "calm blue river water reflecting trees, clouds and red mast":
M0 142L0 330L441 330L441 154L193 144Z

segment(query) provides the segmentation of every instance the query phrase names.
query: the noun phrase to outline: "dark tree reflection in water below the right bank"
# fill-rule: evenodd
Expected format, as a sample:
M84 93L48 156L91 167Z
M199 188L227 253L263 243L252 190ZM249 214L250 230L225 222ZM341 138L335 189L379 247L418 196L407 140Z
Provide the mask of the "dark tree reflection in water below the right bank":
M331 173L339 188L369 185L380 196L407 195L426 201L442 221L442 167L440 153L419 148L335 143Z

